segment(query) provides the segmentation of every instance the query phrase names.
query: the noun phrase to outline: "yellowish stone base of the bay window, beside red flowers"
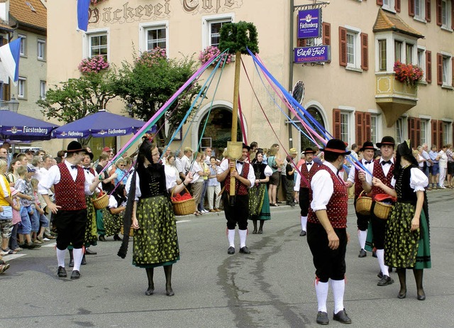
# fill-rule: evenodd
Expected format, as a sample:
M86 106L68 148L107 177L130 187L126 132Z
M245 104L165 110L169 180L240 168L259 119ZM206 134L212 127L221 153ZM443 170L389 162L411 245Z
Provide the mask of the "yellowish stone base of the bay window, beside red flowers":
M397 81L392 74L376 76L375 102L382 108L387 126L418 103L418 89Z

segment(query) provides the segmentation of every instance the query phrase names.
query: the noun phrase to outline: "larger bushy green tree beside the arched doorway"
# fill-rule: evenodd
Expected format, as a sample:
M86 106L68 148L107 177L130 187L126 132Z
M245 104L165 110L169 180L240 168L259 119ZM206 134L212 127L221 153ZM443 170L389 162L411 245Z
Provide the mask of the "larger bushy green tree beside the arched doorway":
M155 48L142 53L133 64L122 62L113 92L128 104L128 112L143 121L148 121L196 70L197 64L193 58L167 59L164 49ZM200 85L193 82L171 104L165 115L161 116L157 126L164 126L166 121L167 133L165 129L159 129L157 143L162 142L160 146L170 142L199 91ZM194 106L189 117L192 117L195 111Z

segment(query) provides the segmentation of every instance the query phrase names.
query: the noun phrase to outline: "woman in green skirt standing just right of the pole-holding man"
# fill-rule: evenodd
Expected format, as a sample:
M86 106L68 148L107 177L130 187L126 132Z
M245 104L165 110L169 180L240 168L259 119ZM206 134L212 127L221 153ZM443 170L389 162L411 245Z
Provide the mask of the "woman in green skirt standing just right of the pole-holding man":
M261 151L255 154L252 165L255 173L255 185L249 190L249 219L253 220L253 234L262 234L265 220L271 219L267 182L270 180L272 170L270 166L263 163ZM257 220L260 220L258 230Z

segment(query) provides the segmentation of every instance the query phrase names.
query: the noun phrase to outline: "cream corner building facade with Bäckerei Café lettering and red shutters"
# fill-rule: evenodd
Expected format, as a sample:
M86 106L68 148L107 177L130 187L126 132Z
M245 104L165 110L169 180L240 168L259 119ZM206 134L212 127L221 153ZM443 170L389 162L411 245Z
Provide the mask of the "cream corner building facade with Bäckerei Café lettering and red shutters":
M298 39L298 11L315 7L321 8L320 37ZM304 82L302 105L333 136L349 145L367 139L377 142L384 135L397 141L411 138L415 146L453 141L451 0L342 0L315 5L303 0L104 0L90 8L87 33L76 31L76 12L76 1L48 3L49 85L78 77L79 62L94 55L104 55L116 65L156 46L165 48L170 58L198 56L207 46L218 44L223 23L248 21L258 30L260 58L267 69L288 89L298 80ZM293 49L309 45L329 45L331 60L294 63ZM289 129L293 118L287 116L287 109L262 84L251 58L242 56L242 60L248 72L248 76L240 74L248 142L258 141L263 148L282 143L284 148L304 149L309 144L298 129ZM397 61L423 68L417 88L394 79ZM183 134L190 137L183 146L196 148L201 137L202 146L216 146L216 141L228 138L233 66L224 70L216 94L209 89L192 124L184 126ZM124 114L124 107L114 101L108 109ZM128 138L118 138L117 146Z

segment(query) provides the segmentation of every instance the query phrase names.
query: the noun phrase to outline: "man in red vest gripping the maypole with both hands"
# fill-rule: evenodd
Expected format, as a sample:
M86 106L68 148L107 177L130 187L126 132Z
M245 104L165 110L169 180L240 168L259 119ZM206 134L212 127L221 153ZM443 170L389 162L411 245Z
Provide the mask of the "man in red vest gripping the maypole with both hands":
M249 146L243 143L243 153L238 160L224 158L219 165L217 179L224 182L223 192L224 213L227 219L228 254L235 253L235 227L238 224L240 235L240 253L249 254L246 246L248 235L249 195L248 189L255 184L255 173L252 166L245 160L248 158ZM230 179L235 177L235 199L230 199Z

